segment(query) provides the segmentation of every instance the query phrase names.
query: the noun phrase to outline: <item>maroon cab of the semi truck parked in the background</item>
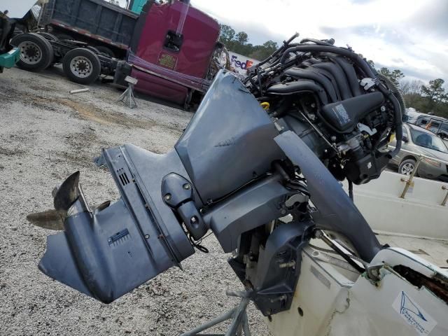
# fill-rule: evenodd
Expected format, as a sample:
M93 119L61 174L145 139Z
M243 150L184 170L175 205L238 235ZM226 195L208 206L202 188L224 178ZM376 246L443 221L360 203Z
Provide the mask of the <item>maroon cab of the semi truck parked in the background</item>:
M181 1L148 3L145 10L146 18L135 27L130 51L145 62L205 78L218 41L218 22ZM139 80L136 90L176 104L188 102L191 87L150 72L132 67L132 77Z

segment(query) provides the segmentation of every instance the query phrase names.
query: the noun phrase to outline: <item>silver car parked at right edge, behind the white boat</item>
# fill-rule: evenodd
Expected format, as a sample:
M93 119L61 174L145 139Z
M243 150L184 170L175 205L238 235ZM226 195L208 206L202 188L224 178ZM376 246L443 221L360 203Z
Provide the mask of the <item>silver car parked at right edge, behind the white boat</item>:
M428 158L421 160L416 176L448 181L448 165L445 163L448 162L448 148L444 141L416 125L403 124L402 127L402 151L392 158L390 164L398 167L399 173L409 175L414 171L419 155L425 155ZM395 140L391 146L395 146Z

